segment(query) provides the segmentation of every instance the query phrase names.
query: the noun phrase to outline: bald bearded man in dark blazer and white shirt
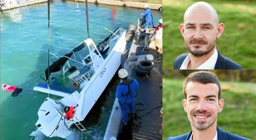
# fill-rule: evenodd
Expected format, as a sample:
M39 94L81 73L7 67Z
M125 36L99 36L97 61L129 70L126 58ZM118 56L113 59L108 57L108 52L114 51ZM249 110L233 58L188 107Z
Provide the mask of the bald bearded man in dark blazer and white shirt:
M178 56L174 69L244 69L216 49L216 40L224 31L216 10L206 2L187 8L184 24L180 25L189 53Z

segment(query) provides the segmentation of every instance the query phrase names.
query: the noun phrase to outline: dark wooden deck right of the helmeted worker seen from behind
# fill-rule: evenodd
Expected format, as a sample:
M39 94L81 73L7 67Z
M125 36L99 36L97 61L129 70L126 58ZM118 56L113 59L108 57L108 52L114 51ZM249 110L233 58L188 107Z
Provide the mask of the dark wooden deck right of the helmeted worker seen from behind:
M141 55L142 49L143 47L137 48L137 55ZM146 50L143 54L153 54L154 58L159 57L157 51L153 49ZM144 111L139 111L139 116L144 116L142 117L141 128L137 132L133 132L133 140L162 140L162 135L159 133L162 122L160 117L162 108L162 63L154 62L154 67L148 77L138 77L135 71L132 76L139 83L136 103L143 103L145 108ZM141 106L136 107L140 108ZM150 112L152 109L154 110ZM147 114L148 112L150 113Z

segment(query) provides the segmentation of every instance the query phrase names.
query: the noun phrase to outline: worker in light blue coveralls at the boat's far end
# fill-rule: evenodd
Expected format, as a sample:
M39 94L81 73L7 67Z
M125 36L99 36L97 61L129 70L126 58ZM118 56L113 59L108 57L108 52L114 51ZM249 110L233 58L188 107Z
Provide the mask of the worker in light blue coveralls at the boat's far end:
M144 13L140 14L139 18L145 17L145 25L144 25L144 29L147 29L148 27L153 28L153 15L151 13L150 8L148 7L148 5L144 6Z

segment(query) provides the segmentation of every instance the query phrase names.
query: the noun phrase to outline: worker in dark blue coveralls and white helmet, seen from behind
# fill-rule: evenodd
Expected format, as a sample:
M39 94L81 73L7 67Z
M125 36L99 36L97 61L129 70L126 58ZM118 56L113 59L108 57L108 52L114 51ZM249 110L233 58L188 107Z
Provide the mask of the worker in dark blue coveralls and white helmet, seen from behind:
M124 125L128 124L128 113L134 116L135 99L137 96L137 89L139 84L135 79L128 78L128 72L125 69L118 71L118 76L121 78L120 84L117 86L116 97L119 99L121 108L122 122Z

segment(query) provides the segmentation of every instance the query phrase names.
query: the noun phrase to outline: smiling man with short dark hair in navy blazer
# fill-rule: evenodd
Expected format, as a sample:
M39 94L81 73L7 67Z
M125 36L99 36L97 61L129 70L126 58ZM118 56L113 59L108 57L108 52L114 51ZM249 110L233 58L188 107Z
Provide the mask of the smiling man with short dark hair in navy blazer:
M183 108L192 131L166 140L249 140L217 126L217 117L222 112L224 100L220 98L221 86L218 77L208 71L191 73L183 83Z

